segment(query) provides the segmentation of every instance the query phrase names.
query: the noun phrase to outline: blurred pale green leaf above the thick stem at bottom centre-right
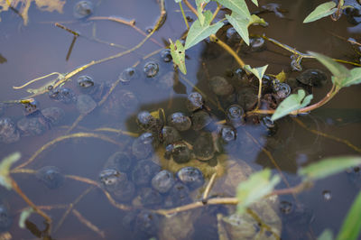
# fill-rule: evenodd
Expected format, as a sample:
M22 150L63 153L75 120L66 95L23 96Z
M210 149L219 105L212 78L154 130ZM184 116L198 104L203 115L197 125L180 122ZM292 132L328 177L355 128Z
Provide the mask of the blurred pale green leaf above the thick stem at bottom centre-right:
M238 185L236 189L236 198L239 201L237 205L238 213L243 213L249 205L273 191L274 186L280 182L281 178L279 175L274 175L271 178L271 173L269 169L255 172L249 176L248 180Z

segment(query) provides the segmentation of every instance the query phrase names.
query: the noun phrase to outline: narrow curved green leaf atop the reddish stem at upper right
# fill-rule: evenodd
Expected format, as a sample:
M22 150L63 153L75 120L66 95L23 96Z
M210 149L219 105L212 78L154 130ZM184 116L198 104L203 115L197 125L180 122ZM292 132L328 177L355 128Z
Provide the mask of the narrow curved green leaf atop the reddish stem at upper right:
M309 51L309 53L310 53L310 55L315 57L317 60L319 60L320 63L325 65L326 68L329 69L329 71L333 74L333 77L334 77L333 79L334 79L336 86L338 86L339 88L342 88L342 82L345 80L345 78L350 76L349 70L347 68L345 68L345 66L339 64L338 62L332 60L331 58L329 58L323 54L313 52L313 51Z

